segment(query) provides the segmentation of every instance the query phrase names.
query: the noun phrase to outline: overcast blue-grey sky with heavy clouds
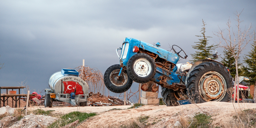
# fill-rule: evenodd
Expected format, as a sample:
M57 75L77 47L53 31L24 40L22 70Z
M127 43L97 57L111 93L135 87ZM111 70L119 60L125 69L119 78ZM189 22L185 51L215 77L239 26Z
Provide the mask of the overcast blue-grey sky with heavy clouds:
M20 86L41 92L50 76L62 68L85 65L104 74L118 64L116 48L125 37L161 48L178 45L189 56L201 35L202 19L207 24L209 44L219 39L216 31L234 30L236 13L248 27L256 26L256 1L0 1L0 86ZM248 54L250 44L244 50ZM223 49L219 50L219 53ZM132 88L137 88L132 86ZM45 93L43 92L42 95Z

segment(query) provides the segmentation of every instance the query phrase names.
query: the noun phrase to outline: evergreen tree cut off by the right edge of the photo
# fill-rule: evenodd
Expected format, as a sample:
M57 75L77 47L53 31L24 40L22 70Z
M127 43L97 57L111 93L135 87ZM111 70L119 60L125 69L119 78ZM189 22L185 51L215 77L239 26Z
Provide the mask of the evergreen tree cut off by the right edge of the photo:
M247 67L244 67L244 76L250 78L249 83L250 85L254 85L254 102L256 103L256 38L254 33L254 41L251 44L252 50L249 55L244 57L244 62L247 63ZM248 57L247 57L248 56Z

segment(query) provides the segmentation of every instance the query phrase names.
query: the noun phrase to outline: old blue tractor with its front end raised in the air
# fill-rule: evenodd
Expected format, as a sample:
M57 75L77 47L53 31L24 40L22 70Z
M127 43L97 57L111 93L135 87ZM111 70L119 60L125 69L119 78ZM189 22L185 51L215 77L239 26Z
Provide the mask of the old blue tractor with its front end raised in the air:
M201 59L193 65L177 64L187 55L177 45L172 49L174 53L160 48L159 42L151 45L126 37L122 48L116 49L120 64L110 66L104 73L105 86L112 92L122 93L132 86L133 81L153 81L161 86L167 106L175 106L177 101L184 99L193 103L231 101L233 81L225 66L211 59Z

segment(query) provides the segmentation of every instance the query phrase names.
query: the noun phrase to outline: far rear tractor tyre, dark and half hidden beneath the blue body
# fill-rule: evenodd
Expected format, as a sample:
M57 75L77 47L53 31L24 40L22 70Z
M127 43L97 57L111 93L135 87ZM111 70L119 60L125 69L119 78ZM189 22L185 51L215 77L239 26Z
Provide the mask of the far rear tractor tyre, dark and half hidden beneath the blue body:
M177 99L175 98L174 91L172 89L161 87L162 92L161 95L163 97L163 101L166 104L166 106L178 106L179 103L177 102Z

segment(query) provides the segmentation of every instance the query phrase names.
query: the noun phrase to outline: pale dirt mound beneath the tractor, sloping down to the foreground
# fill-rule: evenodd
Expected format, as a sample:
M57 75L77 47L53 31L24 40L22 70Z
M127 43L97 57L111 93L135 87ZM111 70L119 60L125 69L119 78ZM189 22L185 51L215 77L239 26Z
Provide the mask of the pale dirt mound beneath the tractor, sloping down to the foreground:
M150 128L170 127L172 128L180 117L192 117L196 113L207 113L211 115L213 122L217 126L223 126L227 119L231 119L236 110L256 108L253 103L233 104L227 102L206 102L201 104L187 104L167 107L164 105L145 105L137 109L113 110L102 112L93 116L77 128L97 128L97 127L120 127L130 119L140 116L149 116L146 124L151 124ZM153 125L152 125L153 124Z

